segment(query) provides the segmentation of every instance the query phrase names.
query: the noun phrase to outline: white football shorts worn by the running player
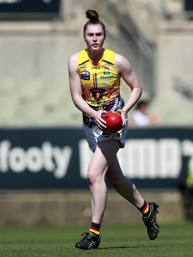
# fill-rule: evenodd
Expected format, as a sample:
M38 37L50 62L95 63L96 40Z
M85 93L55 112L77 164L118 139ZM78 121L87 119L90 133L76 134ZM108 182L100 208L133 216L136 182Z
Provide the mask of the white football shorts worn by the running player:
M99 142L107 142L110 140L116 140L120 142L121 147L124 148L125 146L125 136L127 133L128 128L128 120L126 119L126 126L117 131L116 133L106 133L101 131L99 128L92 129L90 127L87 127L85 124L83 124L83 131L86 136L86 140L88 142L88 146L91 149L91 151L94 151L97 147L97 143Z

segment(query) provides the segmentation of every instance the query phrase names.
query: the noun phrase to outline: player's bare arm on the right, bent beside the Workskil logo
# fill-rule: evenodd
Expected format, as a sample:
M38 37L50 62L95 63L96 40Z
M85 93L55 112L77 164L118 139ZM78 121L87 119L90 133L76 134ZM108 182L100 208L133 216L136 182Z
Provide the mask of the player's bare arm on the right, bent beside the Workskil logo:
M132 67L129 61L122 55L115 54L115 66L118 73L121 75L125 83L131 88L131 94L127 100L124 108L120 110L121 117L123 119L123 126L125 125L125 116L131 110L131 108L139 100L142 88L137 79L135 72L132 70Z

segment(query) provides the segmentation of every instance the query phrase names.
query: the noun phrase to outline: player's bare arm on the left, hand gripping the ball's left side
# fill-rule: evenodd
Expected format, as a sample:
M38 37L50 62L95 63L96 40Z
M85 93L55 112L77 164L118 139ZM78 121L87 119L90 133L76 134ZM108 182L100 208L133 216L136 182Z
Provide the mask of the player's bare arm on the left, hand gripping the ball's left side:
M77 69L77 58L78 54L76 53L68 60L69 85L72 101L80 111L85 112L87 115L94 118L99 129L104 130L106 128L106 122L101 118L101 115L106 113L106 111L97 112L93 110L82 97L82 86Z

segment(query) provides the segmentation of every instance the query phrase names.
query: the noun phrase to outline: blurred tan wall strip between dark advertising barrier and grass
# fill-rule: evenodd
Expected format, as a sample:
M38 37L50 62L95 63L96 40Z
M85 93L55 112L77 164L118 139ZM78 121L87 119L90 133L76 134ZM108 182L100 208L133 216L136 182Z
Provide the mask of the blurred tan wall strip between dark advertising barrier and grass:
M182 194L178 190L138 189L147 201L159 204L160 223L183 221ZM90 191L0 190L0 226L37 224L89 224ZM108 189L103 223L140 223L141 213L117 192Z

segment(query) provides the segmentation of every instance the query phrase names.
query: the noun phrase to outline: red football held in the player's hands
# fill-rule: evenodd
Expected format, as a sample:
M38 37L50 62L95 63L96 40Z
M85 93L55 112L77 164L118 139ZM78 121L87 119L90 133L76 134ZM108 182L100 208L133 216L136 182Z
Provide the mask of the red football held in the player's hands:
M102 114L101 118L107 123L105 124L107 127L105 129L106 133L115 133L122 128L122 118L117 112L108 111L107 113Z

